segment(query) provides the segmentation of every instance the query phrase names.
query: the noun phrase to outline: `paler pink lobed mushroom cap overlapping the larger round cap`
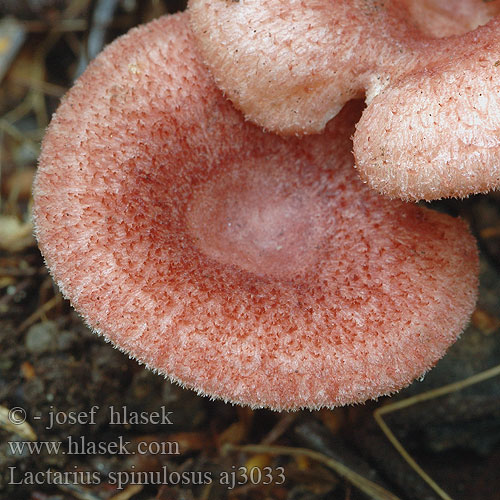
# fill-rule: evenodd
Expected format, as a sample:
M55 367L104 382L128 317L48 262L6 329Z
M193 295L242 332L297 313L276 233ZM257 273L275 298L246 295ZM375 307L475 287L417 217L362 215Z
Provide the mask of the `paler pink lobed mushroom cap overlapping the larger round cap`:
M354 155L372 188L432 200L500 186L500 19L436 39L409 18L415 0L190 0L189 10L217 84L255 123L319 133L365 95ZM443 30L465 30L461 19Z

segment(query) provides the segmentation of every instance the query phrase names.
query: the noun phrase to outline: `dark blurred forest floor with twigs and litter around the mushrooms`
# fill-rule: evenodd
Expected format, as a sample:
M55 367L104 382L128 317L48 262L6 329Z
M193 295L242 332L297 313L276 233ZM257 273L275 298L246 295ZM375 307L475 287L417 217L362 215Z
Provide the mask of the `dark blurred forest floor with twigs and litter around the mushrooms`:
M424 380L365 405L276 413L199 397L94 336L61 297L30 221L44 129L89 45L181 8L0 0L0 498L500 498L498 193L434 204L478 239L477 309Z

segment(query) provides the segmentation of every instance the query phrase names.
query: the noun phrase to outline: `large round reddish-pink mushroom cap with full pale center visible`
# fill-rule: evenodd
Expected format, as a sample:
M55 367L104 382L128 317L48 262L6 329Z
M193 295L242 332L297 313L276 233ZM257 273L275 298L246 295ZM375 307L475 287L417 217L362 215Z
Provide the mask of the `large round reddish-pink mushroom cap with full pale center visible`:
M171 380L297 409L392 393L466 325L466 224L367 189L351 103L324 134L246 121L198 57L186 14L119 38L49 126L36 236L88 325Z

